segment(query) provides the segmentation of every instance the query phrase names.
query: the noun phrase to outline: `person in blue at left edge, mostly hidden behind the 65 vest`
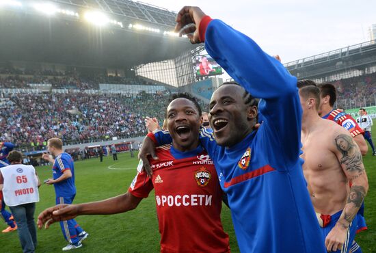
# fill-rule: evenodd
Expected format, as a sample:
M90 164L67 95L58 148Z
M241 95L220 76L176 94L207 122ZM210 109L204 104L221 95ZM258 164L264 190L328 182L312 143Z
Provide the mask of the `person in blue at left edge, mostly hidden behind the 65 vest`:
M10 165L10 162L8 161L7 157L14 149L14 144L10 142L0 142L0 168L3 168L5 166ZM14 230L17 230L16 222L14 222L14 218L12 213L5 210L5 202L3 200L3 194L0 191L0 208L1 208L1 216L3 216L3 219L8 224L8 228L5 228L2 232L11 232Z

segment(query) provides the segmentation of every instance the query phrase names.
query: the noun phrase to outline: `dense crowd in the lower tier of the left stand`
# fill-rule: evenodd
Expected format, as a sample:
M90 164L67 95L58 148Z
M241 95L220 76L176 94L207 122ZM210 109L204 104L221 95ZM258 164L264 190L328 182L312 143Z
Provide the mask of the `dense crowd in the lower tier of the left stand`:
M77 144L146 134L144 117L163 120L170 94L16 94L1 110L1 141L43 145L59 137ZM155 103L159 101L159 103Z

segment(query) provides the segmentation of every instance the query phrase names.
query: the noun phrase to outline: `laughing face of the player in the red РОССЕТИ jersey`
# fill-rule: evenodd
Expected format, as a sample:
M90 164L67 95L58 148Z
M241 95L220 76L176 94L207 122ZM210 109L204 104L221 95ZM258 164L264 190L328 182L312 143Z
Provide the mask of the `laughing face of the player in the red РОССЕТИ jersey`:
M172 145L180 151L197 148L201 116L195 104L187 98L176 98L167 107L167 129Z

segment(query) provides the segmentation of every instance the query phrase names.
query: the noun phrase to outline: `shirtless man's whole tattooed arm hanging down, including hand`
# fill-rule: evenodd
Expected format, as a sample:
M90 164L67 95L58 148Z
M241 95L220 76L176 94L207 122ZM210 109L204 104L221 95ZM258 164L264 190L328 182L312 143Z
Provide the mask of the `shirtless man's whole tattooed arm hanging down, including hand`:
M362 161L362 154L351 135L343 129L343 133L334 139L336 156L347 179L351 182L350 193L338 222L325 239L328 252L343 247L347 230L358 213L368 191L368 179Z

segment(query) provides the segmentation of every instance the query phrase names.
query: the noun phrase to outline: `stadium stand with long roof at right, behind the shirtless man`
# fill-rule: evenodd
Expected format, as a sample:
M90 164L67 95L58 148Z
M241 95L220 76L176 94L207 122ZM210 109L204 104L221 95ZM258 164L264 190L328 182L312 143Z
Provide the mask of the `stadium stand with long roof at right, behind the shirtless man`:
M376 40L354 44L288 62L284 66L298 79L334 83L338 91L338 107L375 107L375 42Z

